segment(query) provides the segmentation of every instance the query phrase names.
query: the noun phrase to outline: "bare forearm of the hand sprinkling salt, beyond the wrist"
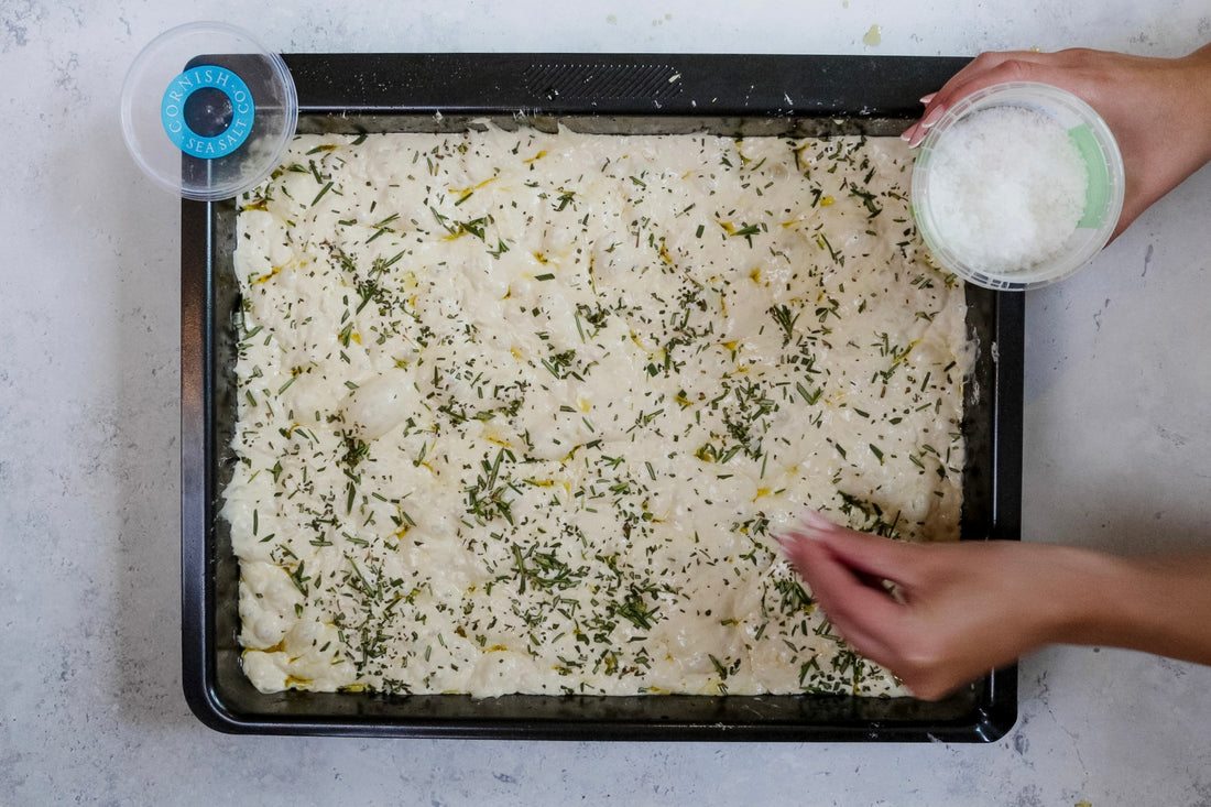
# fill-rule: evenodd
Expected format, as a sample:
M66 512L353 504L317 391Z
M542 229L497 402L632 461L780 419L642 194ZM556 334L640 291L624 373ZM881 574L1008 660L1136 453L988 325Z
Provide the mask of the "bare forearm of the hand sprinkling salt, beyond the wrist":
M1052 642L1125 647L1211 664L1211 553L1113 557L1072 550Z

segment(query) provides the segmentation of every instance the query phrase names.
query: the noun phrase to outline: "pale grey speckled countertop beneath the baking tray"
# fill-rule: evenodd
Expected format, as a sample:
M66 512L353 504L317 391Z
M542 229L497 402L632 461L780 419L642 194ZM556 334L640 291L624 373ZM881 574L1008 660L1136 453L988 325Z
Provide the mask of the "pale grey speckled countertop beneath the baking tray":
M1021 717L989 745L199 723L179 671L178 207L117 125L122 76L156 34L201 15L303 52L1175 56L1211 40L1205 0L323 5L0 0L0 805L1211 803L1211 669L1098 648L1025 659ZM1092 267L1028 294L1025 539L1211 545L1209 210L1204 170Z

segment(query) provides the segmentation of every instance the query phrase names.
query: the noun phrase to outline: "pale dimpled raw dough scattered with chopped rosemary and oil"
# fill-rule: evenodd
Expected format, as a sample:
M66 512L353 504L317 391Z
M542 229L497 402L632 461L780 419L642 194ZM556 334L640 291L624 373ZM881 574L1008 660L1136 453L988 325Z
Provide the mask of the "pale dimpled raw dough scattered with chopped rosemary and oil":
M771 538L949 539L962 286L899 138L303 136L235 268L263 691L897 694Z

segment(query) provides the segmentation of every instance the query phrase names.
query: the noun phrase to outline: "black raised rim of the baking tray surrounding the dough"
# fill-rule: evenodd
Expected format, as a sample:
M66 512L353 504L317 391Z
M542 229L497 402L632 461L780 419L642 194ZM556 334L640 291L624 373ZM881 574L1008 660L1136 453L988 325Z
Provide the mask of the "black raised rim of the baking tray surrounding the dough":
M659 55L642 56L608 56L586 55L575 56L551 56L551 55L286 55L292 73L299 81L300 99L300 131L309 122L332 122L339 120L339 126L365 127L366 121L381 121L383 119L409 119L417 120L424 116L432 116L434 110L424 104L412 107L396 104L395 107L383 104L358 104L358 114L342 114L339 108L325 102L326 92L339 92L337 90L316 87L311 88L309 81L315 81L316 75L334 75L337 65L344 65L344 70L350 69L362 61L375 63L375 69L384 59L391 63L394 59L398 64L415 65L440 61L447 68L452 63L461 64L464 69L475 74L484 70L500 59L510 59L516 63L521 58L535 63L552 63L559 59L585 59L592 58L595 62L610 63L610 59L653 61L660 59ZM843 69L845 64L856 64L859 59L867 69L882 64L883 70L900 68L908 57L718 57L677 55L668 59L677 59L681 63L693 63L694 59L735 59L742 58L747 63L757 64L758 68L779 70L786 67L808 69L817 62L825 62L830 70ZM937 75L952 70L955 59L951 58L914 58L913 64L926 65ZM524 62L523 62L524 63ZM878 70L876 70L878 73ZM507 93L505 93L507 95ZM768 95L768 93L767 93ZM855 96L856 97L856 96ZM312 99L317 102L312 103ZM463 125L463 121L476 118L503 114L503 109L524 110L523 118L534 120L602 120L648 118L658 121L668 120L678 114L690 119L700 118L704 121L728 119L725 126L744 125L745 121L768 122L771 119L782 119L790 122L798 118L826 118L832 125L840 127L842 132L851 131L846 124L856 121L861 130L872 121L874 125L883 125L879 121L891 121L902 125L911 120L902 110L888 110L862 105L861 113L849 116L838 115L836 109L820 111L820 109L808 109L807 111L787 110L782 107L770 104L765 99L764 107L750 107L741 109L734 115L702 114L693 108L678 109L676 104L666 103L659 109L652 109L643 98L625 99L625 103L616 105L613 110L597 108L581 108L579 111L568 111L544 108L541 99L533 104L509 104L499 101L488 103L480 99L475 103L455 104L459 116L452 125ZM857 108L854 99L842 99L840 105L849 104ZM833 104L836 105L836 104ZM552 105L553 107L553 105ZM800 110L803 108L800 107ZM464 118L465 116L465 118ZM518 116L512 115L516 120ZM828 122L826 121L826 126ZM449 122L449 121L448 121ZM637 696L627 700L644 702L644 706L638 712L627 711L621 719L603 717L576 717L575 710L569 716L567 714L551 715L522 715L510 714L507 709L500 710L487 708L470 710L458 715L436 714L391 714L392 703L414 703L425 698L466 698L465 696L412 696L400 698L394 696L338 696L342 698L366 698L367 702L377 699L378 705L388 704L388 708L368 709L365 712L332 714L309 711L305 706L293 704L294 708L257 711L242 709L239 704L222 691L220 671L218 670L216 634L216 613L219 603L216 601L216 570L220 559L216 554L216 468L213 459L222 446L214 441L214 336L222 324L216 321L216 316L222 314L214 304L214 275L216 262L222 258L216 245L216 234L219 214L224 202L194 202L183 201L182 206L182 663L183 663L183 689L185 699L194 714L207 726L228 733L263 733L263 734L327 734L327 736L392 736L392 737L446 737L446 738L513 738L513 739L733 739L733 740L865 740L865 742L992 742L1003 737L1016 721L1017 717L1017 670L1016 665L1010 665L1001 670L989 672L982 681L974 685L971 691L960 691L964 699L963 711L949 712L945 706L939 708L936 716L930 715L931 705L913 702L916 709L909 708L909 715L905 719L879 719L878 715L863 715L862 709L846 709L842 704L840 709L833 710L833 716L823 719L796 722L794 719L769 720L769 719L741 719L734 711L723 710L719 720L712 720L711 708L718 703L730 700L744 700L745 698L757 699L762 696L729 696L727 698L713 698L706 696ZM969 287L969 294L971 288ZM975 292L985 294L983 291ZM989 448L993 452L992 467L993 479L991 480L991 500L988 513L988 530L982 537L995 537L1003 539L1018 539L1020 536L1020 491L1021 491L1021 404L1022 404L1022 342L1023 342L1023 298L1021 294L1006 292L987 292L983 298L992 307L992 322L989 322L992 338L995 340L994 366L992 367L991 384L986 384L982 395L989 396L992 404L993 434L991 435ZM234 606L233 606L234 607ZM297 693L306 697L309 693ZM813 698L815 700L840 699L843 702L862 702L872 699L846 698L843 696L777 696L776 698ZM566 704L582 703L578 699L608 700L619 704L616 697L585 697L585 696L505 696L497 699L492 706L513 699L562 699ZM698 717L668 717L645 714L643 709L650 703L671 704L676 699L689 698L705 708L691 709L689 714ZM673 700L659 700L673 699ZM890 699L912 700L912 699ZM486 702L475 702L480 706L486 706ZM883 700L889 703L889 700ZM942 702L946 704L947 702ZM853 703L848 704L854 706ZM924 712L922 712L924 709ZM654 709L649 711L665 711ZM716 709L716 711L719 711ZM846 711L849 712L846 715Z

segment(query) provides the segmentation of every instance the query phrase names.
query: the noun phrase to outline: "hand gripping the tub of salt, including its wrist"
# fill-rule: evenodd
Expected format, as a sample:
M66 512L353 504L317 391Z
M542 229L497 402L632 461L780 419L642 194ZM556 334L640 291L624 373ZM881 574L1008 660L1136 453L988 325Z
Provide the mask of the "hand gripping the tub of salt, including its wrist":
M905 131L905 139L919 144L955 102L1003 81L1062 87L1106 120L1126 172L1115 237L1211 160L1211 45L1176 59L1079 48L981 53L923 99L924 115Z

